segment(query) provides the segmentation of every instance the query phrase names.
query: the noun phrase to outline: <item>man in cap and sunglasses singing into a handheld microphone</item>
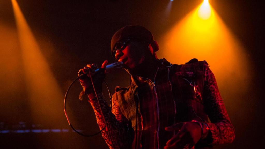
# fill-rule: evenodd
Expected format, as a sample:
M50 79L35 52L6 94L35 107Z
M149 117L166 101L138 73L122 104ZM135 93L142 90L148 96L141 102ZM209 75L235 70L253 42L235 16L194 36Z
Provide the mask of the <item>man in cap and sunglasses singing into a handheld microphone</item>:
M171 64L157 59L158 49L152 33L140 25L113 35L112 55L124 63L131 79L130 86L116 87L112 109L101 93L104 71L95 73L96 66L88 64L78 73L91 71L97 95L89 75L80 83L100 129L106 126L102 135L109 148L208 149L231 143L235 129L206 61Z

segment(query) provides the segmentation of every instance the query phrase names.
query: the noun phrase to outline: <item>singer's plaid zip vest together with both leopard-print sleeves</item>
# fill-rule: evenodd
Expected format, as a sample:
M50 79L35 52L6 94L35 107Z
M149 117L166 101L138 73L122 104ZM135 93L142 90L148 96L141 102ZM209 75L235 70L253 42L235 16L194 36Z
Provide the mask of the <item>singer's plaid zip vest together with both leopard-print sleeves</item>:
M165 59L164 59L165 61ZM197 120L209 127L195 148L230 143L235 138L213 73L205 61L157 69L154 81L131 76L130 86L116 87L112 109L102 94L89 100L110 148L164 148L175 132L165 127ZM208 122L208 117L211 123Z

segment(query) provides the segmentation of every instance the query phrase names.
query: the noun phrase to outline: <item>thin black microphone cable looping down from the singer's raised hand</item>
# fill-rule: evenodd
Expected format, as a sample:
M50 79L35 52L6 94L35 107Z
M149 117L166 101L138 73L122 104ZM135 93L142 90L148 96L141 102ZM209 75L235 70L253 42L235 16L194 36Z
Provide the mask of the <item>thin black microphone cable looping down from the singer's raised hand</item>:
M68 121L68 124L71 126L71 128L72 128L77 134L80 134L80 135L85 136L85 137L92 137L92 136L95 136L95 135L99 134L100 132L102 132L102 131L107 127L107 123L106 123L106 121L105 121L105 117L104 117L104 115L103 115L103 112L102 112L102 109L101 109L101 106L100 106L100 103L99 103L98 95L97 95L97 93L96 93L96 89L95 89L94 83L93 83L93 81L92 81L92 77L91 77L90 69L89 69L89 76L90 76L91 83L92 83L92 86L93 86L93 88L94 88L94 91L95 91L95 94L96 94L96 98L97 98L97 100L98 100L99 108L100 108L100 111L101 111L101 113L102 113L102 115L103 115L103 119L104 119L104 122L105 122L105 125L106 125L106 126L105 126L104 128L102 128L102 129L101 129L99 132L97 132L97 133L90 134L90 135L82 134L82 133L78 132L78 131L73 127L73 125L71 124L71 122L70 122L70 120L69 120L69 117L68 117L68 115L67 115L67 112L66 112L66 99L67 99L68 92L69 92L71 86L74 84L74 82L76 82L76 80L78 80L78 79L79 79L81 76L83 76L83 75L85 75L85 74L82 74L82 75L78 76L76 79L74 79L74 81L73 81L73 82L70 84L70 86L68 87L68 89L67 89L67 91L66 91L66 93L65 93L65 97L64 97L64 113L65 113L66 119L67 119L67 121ZM104 80L104 83L105 83L105 85L107 86L107 89L108 89L108 92L109 92L110 108L112 108L112 105L111 105L111 103L112 103L112 102L111 102L111 92L110 92L110 90L109 90L109 86L108 86L108 84L107 84L107 82L106 82L105 80ZM110 115L109 115L109 116L110 116ZM111 136L110 136L110 137L111 137ZM111 139L111 141L112 141L112 139Z

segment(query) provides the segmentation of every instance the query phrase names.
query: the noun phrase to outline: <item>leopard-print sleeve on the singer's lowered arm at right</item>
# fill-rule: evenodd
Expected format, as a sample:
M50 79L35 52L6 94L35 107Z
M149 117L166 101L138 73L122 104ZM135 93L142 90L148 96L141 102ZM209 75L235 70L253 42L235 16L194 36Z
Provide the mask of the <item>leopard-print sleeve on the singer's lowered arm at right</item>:
M231 143L235 139L235 128L228 117L213 72L208 65L205 66L205 69L203 98L206 104L206 112L211 120L211 123L207 123L210 130L207 135L207 143Z

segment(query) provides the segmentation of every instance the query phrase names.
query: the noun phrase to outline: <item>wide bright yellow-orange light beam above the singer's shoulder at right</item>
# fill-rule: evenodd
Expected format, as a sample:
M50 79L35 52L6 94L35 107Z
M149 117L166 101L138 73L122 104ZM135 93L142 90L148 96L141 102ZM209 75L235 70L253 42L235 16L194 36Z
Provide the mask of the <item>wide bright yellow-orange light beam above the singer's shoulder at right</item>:
M200 16L200 13L207 15ZM242 95L248 90L252 77L251 62L244 46L208 1L187 14L158 42L161 50L157 56L171 63L183 64L193 58L206 60L228 104L235 105L232 96Z

